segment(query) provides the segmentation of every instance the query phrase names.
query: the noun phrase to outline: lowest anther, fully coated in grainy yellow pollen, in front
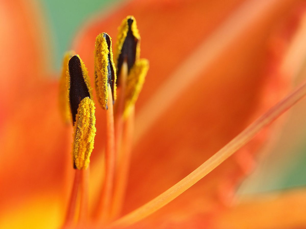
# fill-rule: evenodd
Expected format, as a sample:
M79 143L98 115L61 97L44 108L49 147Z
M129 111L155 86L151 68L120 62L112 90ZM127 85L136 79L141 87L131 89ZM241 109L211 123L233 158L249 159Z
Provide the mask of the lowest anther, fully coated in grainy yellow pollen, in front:
M73 162L76 169L87 169L95 140L95 104L89 97L81 100L74 125Z

